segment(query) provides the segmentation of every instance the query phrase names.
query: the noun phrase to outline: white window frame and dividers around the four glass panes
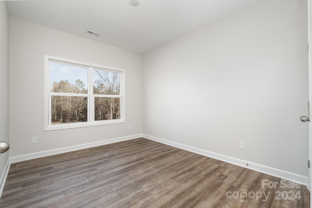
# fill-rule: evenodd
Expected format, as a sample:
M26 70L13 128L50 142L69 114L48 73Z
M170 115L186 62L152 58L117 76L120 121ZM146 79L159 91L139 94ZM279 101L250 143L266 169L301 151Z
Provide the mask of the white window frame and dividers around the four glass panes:
M50 62L59 62L69 65L78 65L80 67L88 68L88 94L74 94L74 93L54 93L50 92ZM93 69L100 69L109 72L120 73L120 94L119 95L93 95ZM111 124L120 124L125 123L125 70L102 66L98 64L79 62L69 59L63 59L54 56L44 56L44 130L58 130L58 129L67 129L67 128L79 128L87 126L96 126L96 125L111 125ZM51 96L52 95L63 95L63 96L85 96L88 99L88 121L87 122L78 122L70 124L51 124ZM120 119L114 120L101 120L94 121L94 98L95 97L116 97L119 98L119 107L120 107Z

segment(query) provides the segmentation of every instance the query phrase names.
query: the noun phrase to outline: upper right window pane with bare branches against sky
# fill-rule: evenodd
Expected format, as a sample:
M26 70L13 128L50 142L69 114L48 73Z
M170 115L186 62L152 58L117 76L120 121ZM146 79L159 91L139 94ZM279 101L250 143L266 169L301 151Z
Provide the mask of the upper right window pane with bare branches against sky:
M119 95L120 73L93 70L93 93L98 95Z

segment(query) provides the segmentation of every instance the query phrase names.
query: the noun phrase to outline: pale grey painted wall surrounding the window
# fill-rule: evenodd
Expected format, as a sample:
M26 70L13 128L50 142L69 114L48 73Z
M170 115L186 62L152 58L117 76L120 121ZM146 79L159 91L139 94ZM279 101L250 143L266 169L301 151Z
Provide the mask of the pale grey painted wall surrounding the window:
M126 123L43 131L44 55L125 69ZM10 156L141 133L141 67L140 54L10 17Z

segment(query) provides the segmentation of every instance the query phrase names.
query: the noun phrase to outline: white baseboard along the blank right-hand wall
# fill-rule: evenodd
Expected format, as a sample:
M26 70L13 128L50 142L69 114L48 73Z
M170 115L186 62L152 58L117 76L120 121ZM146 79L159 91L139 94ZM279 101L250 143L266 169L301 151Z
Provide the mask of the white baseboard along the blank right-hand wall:
M265 174L268 174L268 175L272 175L272 176L275 176L275 177L278 177L278 178L286 179L286 180L289 180L289 181L293 181L294 180L295 182L300 183L300 184L305 185L305 186L308 186L308 184L309 184L308 177L302 176L302 175L298 175L296 173L292 173L292 172L276 169L276 168L269 167L269 166L262 166L262 165L259 165L259 164L251 163L249 161L236 159L236 158L229 157L229 156L226 156L226 155L218 154L218 153L207 151L207 150L204 150L204 149L199 149L199 148L192 147L192 146L179 144L179 143L176 143L176 142L168 141L168 140L165 140L165 139L160 139L160 138L153 137L153 136L146 135L146 134L142 134L142 137L144 137L146 139L150 139L150 140L156 141L156 142L160 142L160 143L163 143L163 144L166 144L166 145L170 145L170 146L174 146L174 147L177 147L177 148L180 148L180 149L184 149L184 150L187 150L187 151L190 151L190 152L194 152L194 153L197 153L197 154L200 154L200 155L204 155L204 156L207 156L207 157L215 158L217 160L221 160L221 161L224 161L224 162L227 162L227 163L231 163L231 164L234 164L234 165L237 165L237 166L246 167L248 169L252 169L252 170L255 170L255 171L258 171L258 172L262 172L262 173L265 173ZM247 164L248 164L248 166L247 166Z

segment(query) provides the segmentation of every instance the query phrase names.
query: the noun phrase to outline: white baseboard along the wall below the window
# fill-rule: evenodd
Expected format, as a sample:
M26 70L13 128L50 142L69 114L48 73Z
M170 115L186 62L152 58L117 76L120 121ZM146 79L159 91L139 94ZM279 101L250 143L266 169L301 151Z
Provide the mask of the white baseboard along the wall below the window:
M142 134L135 134L131 136L125 136L125 137L119 137L115 139L109 139L109 140L103 140L103 141L98 141L98 142L93 142L93 143L87 143L83 145L76 145L76 146L68 146L68 147L63 147L63 148L58 148L58 149L51 149L51 150L46 150L46 151L41 151L41 152L34 152L30 154L24 154L24 155L18 155L18 156L13 156L10 157L10 162L11 163L17 163L25 160L31 160L31 159L36 159L40 157L46 157L46 156L51 156L51 155L56 155L60 153L65 153L65 152L71 152L79 149L85 149L85 148L90 148L94 146L101 146L101 145L108 145L116 142L122 142L126 140L131 140L131 139L136 139L142 137Z

